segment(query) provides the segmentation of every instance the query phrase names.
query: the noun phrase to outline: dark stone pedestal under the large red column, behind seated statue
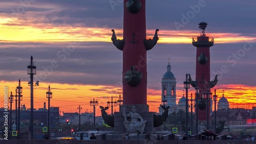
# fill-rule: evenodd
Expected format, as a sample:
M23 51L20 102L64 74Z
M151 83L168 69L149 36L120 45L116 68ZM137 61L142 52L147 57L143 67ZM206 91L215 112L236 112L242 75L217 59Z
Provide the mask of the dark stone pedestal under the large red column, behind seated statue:
M125 108L126 114L132 111L132 106L136 107L136 113L140 114L140 116L143 118L143 121L146 122L146 126L144 129L144 133L153 133L154 130L154 112L148 112L148 105L143 104L135 104L135 105L122 105L121 106L121 112L115 112L114 113L114 132L115 134L123 134L125 133L125 127L123 125L124 116L123 116L123 108Z

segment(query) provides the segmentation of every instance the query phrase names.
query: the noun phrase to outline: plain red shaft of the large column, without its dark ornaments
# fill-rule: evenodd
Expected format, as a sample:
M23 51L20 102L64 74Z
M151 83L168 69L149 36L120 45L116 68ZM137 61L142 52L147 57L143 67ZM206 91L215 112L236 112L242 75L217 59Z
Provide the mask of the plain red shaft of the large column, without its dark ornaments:
M123 104L146 104L146 49L143 39L146 39L145 0L141 1L138 13L131 13L124 1L123 11ZM134 65L135 70L141 71L142 79L137 86L125 82L125 73Z

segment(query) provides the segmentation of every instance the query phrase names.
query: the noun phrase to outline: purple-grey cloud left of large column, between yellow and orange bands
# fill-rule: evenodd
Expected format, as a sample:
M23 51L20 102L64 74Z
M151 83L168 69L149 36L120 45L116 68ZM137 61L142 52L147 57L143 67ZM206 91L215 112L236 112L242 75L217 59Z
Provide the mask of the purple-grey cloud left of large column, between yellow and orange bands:
M111 43L85 42L80 44L80 48L67 53L67 55L63 53L63 50L67 50L67 43L58 43L59 45L55 43L51 47L49 47L49 43L46 44L47 46L40 43L26 43L25 45L31 44L34 44L36 48L22 47L22 51L20 51L20 44L17 44L17 47L1 49L3 52L0 58L1 66L5 67L3 71L7 73L8 70L18 70L17 73L20 73L20 70L26 70L30 56L33 55L34 64L37 66L35 77L42 76L40 78L44 78L42 80L47 82L72 84L93 84L95 82L100 84L102 82L102 84L108 84L111 83L109 82L112 81L111 79L118 79L115 75L117 75L116 69L121 70L121 53L118 53L113 46L111 49ZM59 52L61 53L58 55ZM116 59L113 60L113 58ZM57 62L57 67L51 65L53 61ZM16 74L16 76L25 78L26 71L24 73L24 75Z

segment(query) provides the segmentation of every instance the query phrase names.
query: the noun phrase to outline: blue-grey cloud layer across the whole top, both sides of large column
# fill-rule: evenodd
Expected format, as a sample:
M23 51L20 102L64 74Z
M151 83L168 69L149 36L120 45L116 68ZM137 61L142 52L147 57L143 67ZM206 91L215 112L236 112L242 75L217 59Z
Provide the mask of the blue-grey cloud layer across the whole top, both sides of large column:
M23 2L23 1L22 1ZM111 6L110 2L116 2ZM20 19L29 23L73 27L104 27L121 29L123 4L116 0L97 1L35 1L24 4L19 1L4 1L0 12L13 13L24 7ZM182 25L179 30L197 30L198 23L209 23L207 32L255 34L256 12L254 1L146 1L147 29L177 30L175 22ZM12 10L11 10L12 9Z

